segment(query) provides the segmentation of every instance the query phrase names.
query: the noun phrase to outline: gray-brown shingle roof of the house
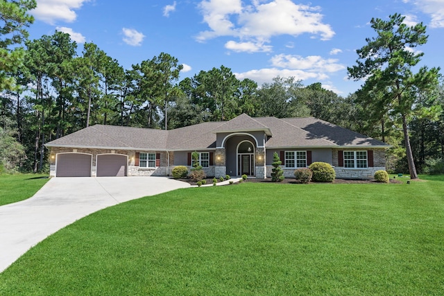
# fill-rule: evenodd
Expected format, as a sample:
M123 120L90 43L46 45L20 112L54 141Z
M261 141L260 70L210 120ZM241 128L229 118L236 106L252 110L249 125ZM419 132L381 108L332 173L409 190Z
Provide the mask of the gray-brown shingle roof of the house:
M93 125L46 143L46 146L129 150L199 150L216 148L216 134L218 132L258 130L263 130L269 136L266 148L388 147L382 141L313 117L289 119L259 117L253 119L246 114L226 122L199 123L176 130Z

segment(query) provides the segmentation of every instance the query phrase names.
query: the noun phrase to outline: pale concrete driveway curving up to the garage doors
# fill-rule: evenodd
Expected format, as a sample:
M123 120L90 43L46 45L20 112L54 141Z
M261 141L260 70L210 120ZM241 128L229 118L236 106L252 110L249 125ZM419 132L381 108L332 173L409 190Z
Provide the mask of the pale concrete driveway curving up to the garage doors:
M106 207L189 184L167 177L58 177L0 207L0 272L59 229Z

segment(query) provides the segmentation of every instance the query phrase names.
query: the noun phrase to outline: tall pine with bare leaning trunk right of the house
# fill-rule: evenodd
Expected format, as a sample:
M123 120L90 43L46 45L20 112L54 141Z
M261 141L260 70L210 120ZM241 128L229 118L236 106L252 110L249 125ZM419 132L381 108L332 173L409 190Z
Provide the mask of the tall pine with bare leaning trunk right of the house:
M418 173L413 161L408 125L416 108L422 108L417 104L418 92L436 87L439 69L421 67L418 73L412 72L423 55L413 49L427 42L426 27L422 23L407 26L404 18L395 14L388 21L375 18L370 21L377 36L366 38L367 44L357 50L359 59L355 66L348 68L348 75L355 80L367 78L363 92L384 94L367 97L388 106L389 112L402 121L410 176L416 179Z

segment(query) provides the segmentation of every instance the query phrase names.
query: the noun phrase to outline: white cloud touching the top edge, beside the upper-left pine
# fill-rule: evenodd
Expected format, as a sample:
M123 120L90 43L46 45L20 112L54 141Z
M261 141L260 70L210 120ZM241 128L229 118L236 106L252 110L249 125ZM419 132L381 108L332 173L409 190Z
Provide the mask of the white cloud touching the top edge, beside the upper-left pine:
M36 18L53 25L56 21L72 22L77 18L75 9L90 0L37 0L37 8L31 10Z

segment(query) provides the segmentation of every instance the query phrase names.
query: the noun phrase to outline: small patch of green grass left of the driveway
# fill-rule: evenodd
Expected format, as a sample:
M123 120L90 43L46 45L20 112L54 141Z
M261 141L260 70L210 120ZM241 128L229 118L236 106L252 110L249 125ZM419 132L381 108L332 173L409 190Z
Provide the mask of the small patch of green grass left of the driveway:
M0 206L31 198L48 180L43 174L0 174Z

